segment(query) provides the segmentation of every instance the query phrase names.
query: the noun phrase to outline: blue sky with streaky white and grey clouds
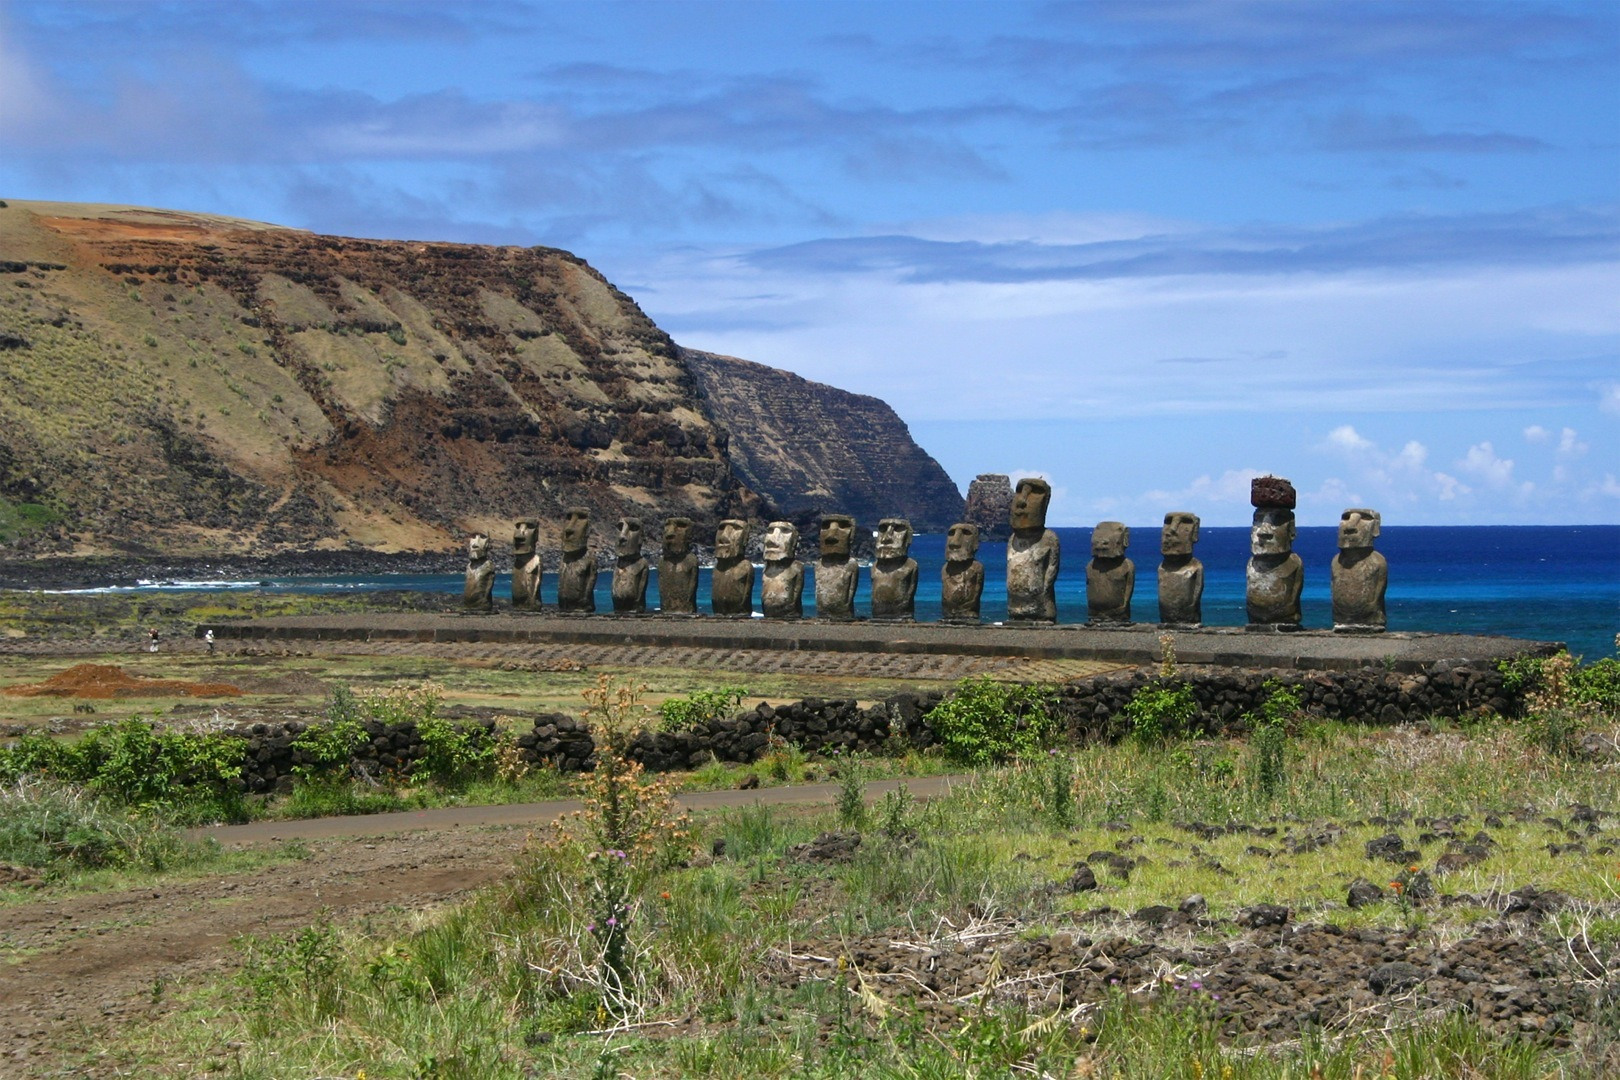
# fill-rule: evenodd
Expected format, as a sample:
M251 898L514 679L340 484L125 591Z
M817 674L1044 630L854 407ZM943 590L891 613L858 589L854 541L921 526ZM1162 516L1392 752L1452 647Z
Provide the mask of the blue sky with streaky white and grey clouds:
M1620 3L0 3L0 196L569 248L1053 521L1620 521Z

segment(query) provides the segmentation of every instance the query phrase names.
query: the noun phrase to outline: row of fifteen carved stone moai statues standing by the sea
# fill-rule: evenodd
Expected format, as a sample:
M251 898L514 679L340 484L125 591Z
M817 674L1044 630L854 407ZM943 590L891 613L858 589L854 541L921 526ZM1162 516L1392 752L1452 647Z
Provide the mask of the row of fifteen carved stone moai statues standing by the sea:
M1058 534L1047 528L1051 486L1042 479L1019 481L1013 494L1008 538L1008 620L1014 623L1055 623L1058 620ZM1249 625L1257 630L1301 627L1299 597L1304 563L1293 551L1294 489L1278 476L1260 476L1251 486L1254 523L1249 529L1247 565ZM692 520L664 521L663 552L658 562L658 601L663 614L697 615L698 557L692 546ZM1332 567L1333 628L1379 631L1387 617L1383 606L1388 565L1377 551L1380 518L1375 510L1345 510L1338 526L1338 555ZM512 534L512 606L538 610L541 560L539 521L517 521ZM854 555L855 520L842 513L821 518L820 557L815 576L815 612L821 619L855 619L855 586L860 563ZM612 572L614 612L645 612L651 563L643 554L643 526L635 518L617 523L617 563ZM1199 517L1184 510L1165 515L1160 534L1158 622L1166 627L1202 625L1204 563L1192 554L1199 539ZM876 559L872 563L872 617L906 622L915 617L917 560L910 557L912 528L904 518L878 523ZM753 614L755 578L760 607L766 619L802 619L805 565L799 560L799 528L771 521L765 528L765 568L755 575L747 557L748 523L721 521L714 531L714 568L710 581L710 609L721 617ZM1092 531L1092 560L1085 565L1087 619L1095 625L1128 625L1136 591L1136 563L1126 557L1131 529L1119 521L1103 521ZM946 533L944 568L940 573L943 622L980 622L985 567L978 555L978 526L959 521ZM494 565L489 538L478 534L468 544L468 609L489 610ZM557 609L596 610L596 557L590 551L590 512L569 510L562 521L562 567L557 580Z

